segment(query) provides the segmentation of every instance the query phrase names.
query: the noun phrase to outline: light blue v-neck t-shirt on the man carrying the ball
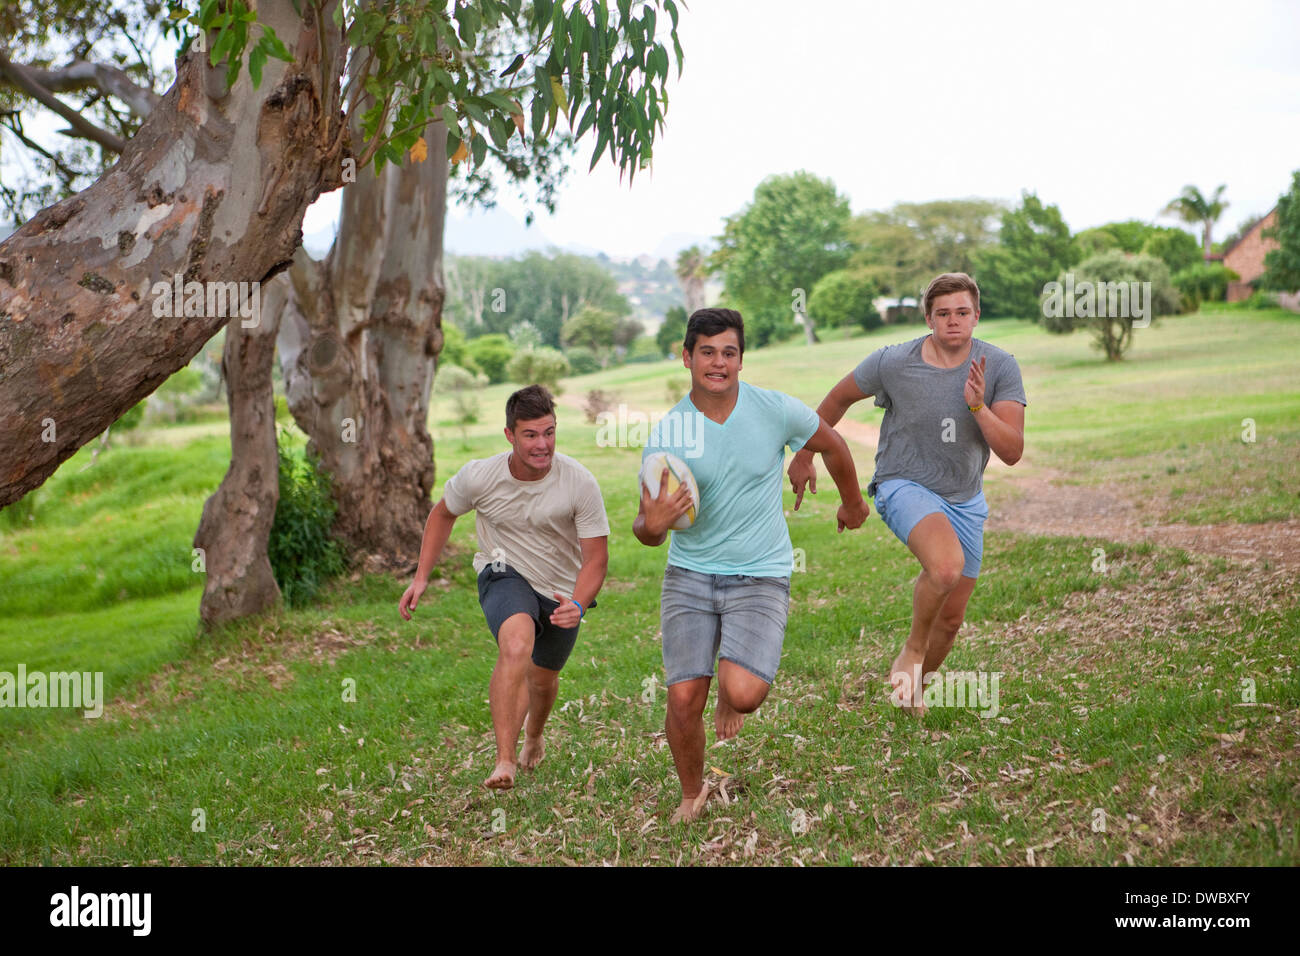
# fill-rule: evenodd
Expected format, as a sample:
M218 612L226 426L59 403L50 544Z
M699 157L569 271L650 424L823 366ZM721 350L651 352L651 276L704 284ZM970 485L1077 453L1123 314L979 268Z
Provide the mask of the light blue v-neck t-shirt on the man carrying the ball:
M693 525L673 531L668 563L688 571L789 578L790 532L781 507L786 446L798 451L820 424L784 392L740 384L736 407L718 424L688 394L650 432L641 459L671 451L699 485Z

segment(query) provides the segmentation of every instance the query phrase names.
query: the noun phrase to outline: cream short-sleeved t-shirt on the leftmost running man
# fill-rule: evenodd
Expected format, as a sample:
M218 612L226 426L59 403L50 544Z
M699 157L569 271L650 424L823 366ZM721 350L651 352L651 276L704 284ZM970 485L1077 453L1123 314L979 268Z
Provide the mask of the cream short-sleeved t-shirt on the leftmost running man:
M610 533L601 485L586 467L558 451L546 477L520 481L510 473L510 455L465 462L447 479L442 501L454 515L477 512L474 572L503 562L545 597L572 596L582 567L578 538Z

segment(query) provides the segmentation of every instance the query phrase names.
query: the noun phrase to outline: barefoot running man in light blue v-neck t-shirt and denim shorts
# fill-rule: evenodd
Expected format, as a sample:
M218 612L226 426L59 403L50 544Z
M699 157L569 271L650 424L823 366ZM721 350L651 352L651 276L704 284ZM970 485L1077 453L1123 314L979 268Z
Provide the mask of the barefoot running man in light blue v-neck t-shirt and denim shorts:
M741 382L744 352L740 312L703 308L690 316L681 352L690 393L653 429L642 457L671 451L699 485L696 523L672 532L660 598L664 730L681 782L672 822L694 819L708 799L703 713L714 658L719 740L736 736L745 714L763 702L781 659L792 570L781 510L785 447L823 453L844 502L840 531L861 527L868 514L844 438L797 398ZM686 485L668 494L667 479L664 471L656 497L641 488L632 531L650 548L692 505Z

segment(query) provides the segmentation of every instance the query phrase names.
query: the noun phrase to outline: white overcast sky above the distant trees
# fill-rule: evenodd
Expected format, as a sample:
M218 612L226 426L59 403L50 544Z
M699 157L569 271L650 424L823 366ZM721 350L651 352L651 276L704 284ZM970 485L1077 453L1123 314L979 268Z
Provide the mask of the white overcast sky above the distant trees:
M586 174L584 142L538 216L549 239L636 255L716 235L764 177L797 169L854 212L1035 190L1075 230L1227 183L1226 235L1300 168L1294 0L694 0L680 36L653 174Z

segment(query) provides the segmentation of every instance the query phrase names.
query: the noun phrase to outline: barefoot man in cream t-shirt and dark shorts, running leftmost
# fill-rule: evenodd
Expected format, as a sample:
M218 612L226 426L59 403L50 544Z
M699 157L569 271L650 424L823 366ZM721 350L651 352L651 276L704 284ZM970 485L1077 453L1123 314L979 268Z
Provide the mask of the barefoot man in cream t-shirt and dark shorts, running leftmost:
M529 385L510 397L506 440L510 451L467 462L447 481L424 527L415 580L398 604L410 620L456 518L476 511L478 601L498 646L488 685L497 766L484 780L493 790L514 787L516 767L530 770L545 756L542 728L559 672L610 559L601 486L555 451L555 405L545 388Z

